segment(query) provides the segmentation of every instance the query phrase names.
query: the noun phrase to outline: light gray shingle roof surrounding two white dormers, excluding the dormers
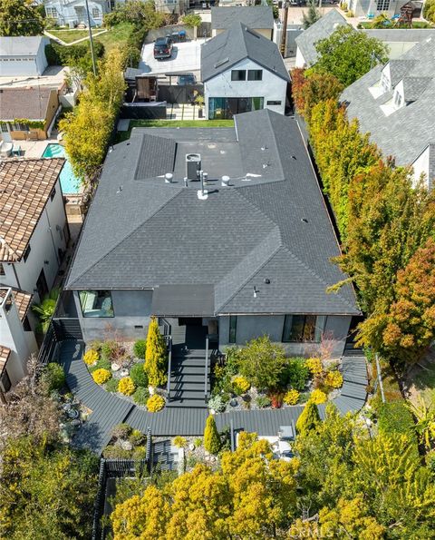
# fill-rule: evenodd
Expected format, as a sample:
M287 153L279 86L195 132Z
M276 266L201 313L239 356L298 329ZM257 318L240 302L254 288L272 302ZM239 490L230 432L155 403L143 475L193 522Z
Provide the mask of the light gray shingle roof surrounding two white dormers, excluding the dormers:
M348 103L349 118L358 119L361 131L371 133L384 155L392 155L399 165L406 165L435 142L435 39L416 44L389 64L391 79L395 84L403 80L405 98L411 103L385 116L380 105L391 93L376 98L369 90L379 84L382 66L346 88L341 101Z

